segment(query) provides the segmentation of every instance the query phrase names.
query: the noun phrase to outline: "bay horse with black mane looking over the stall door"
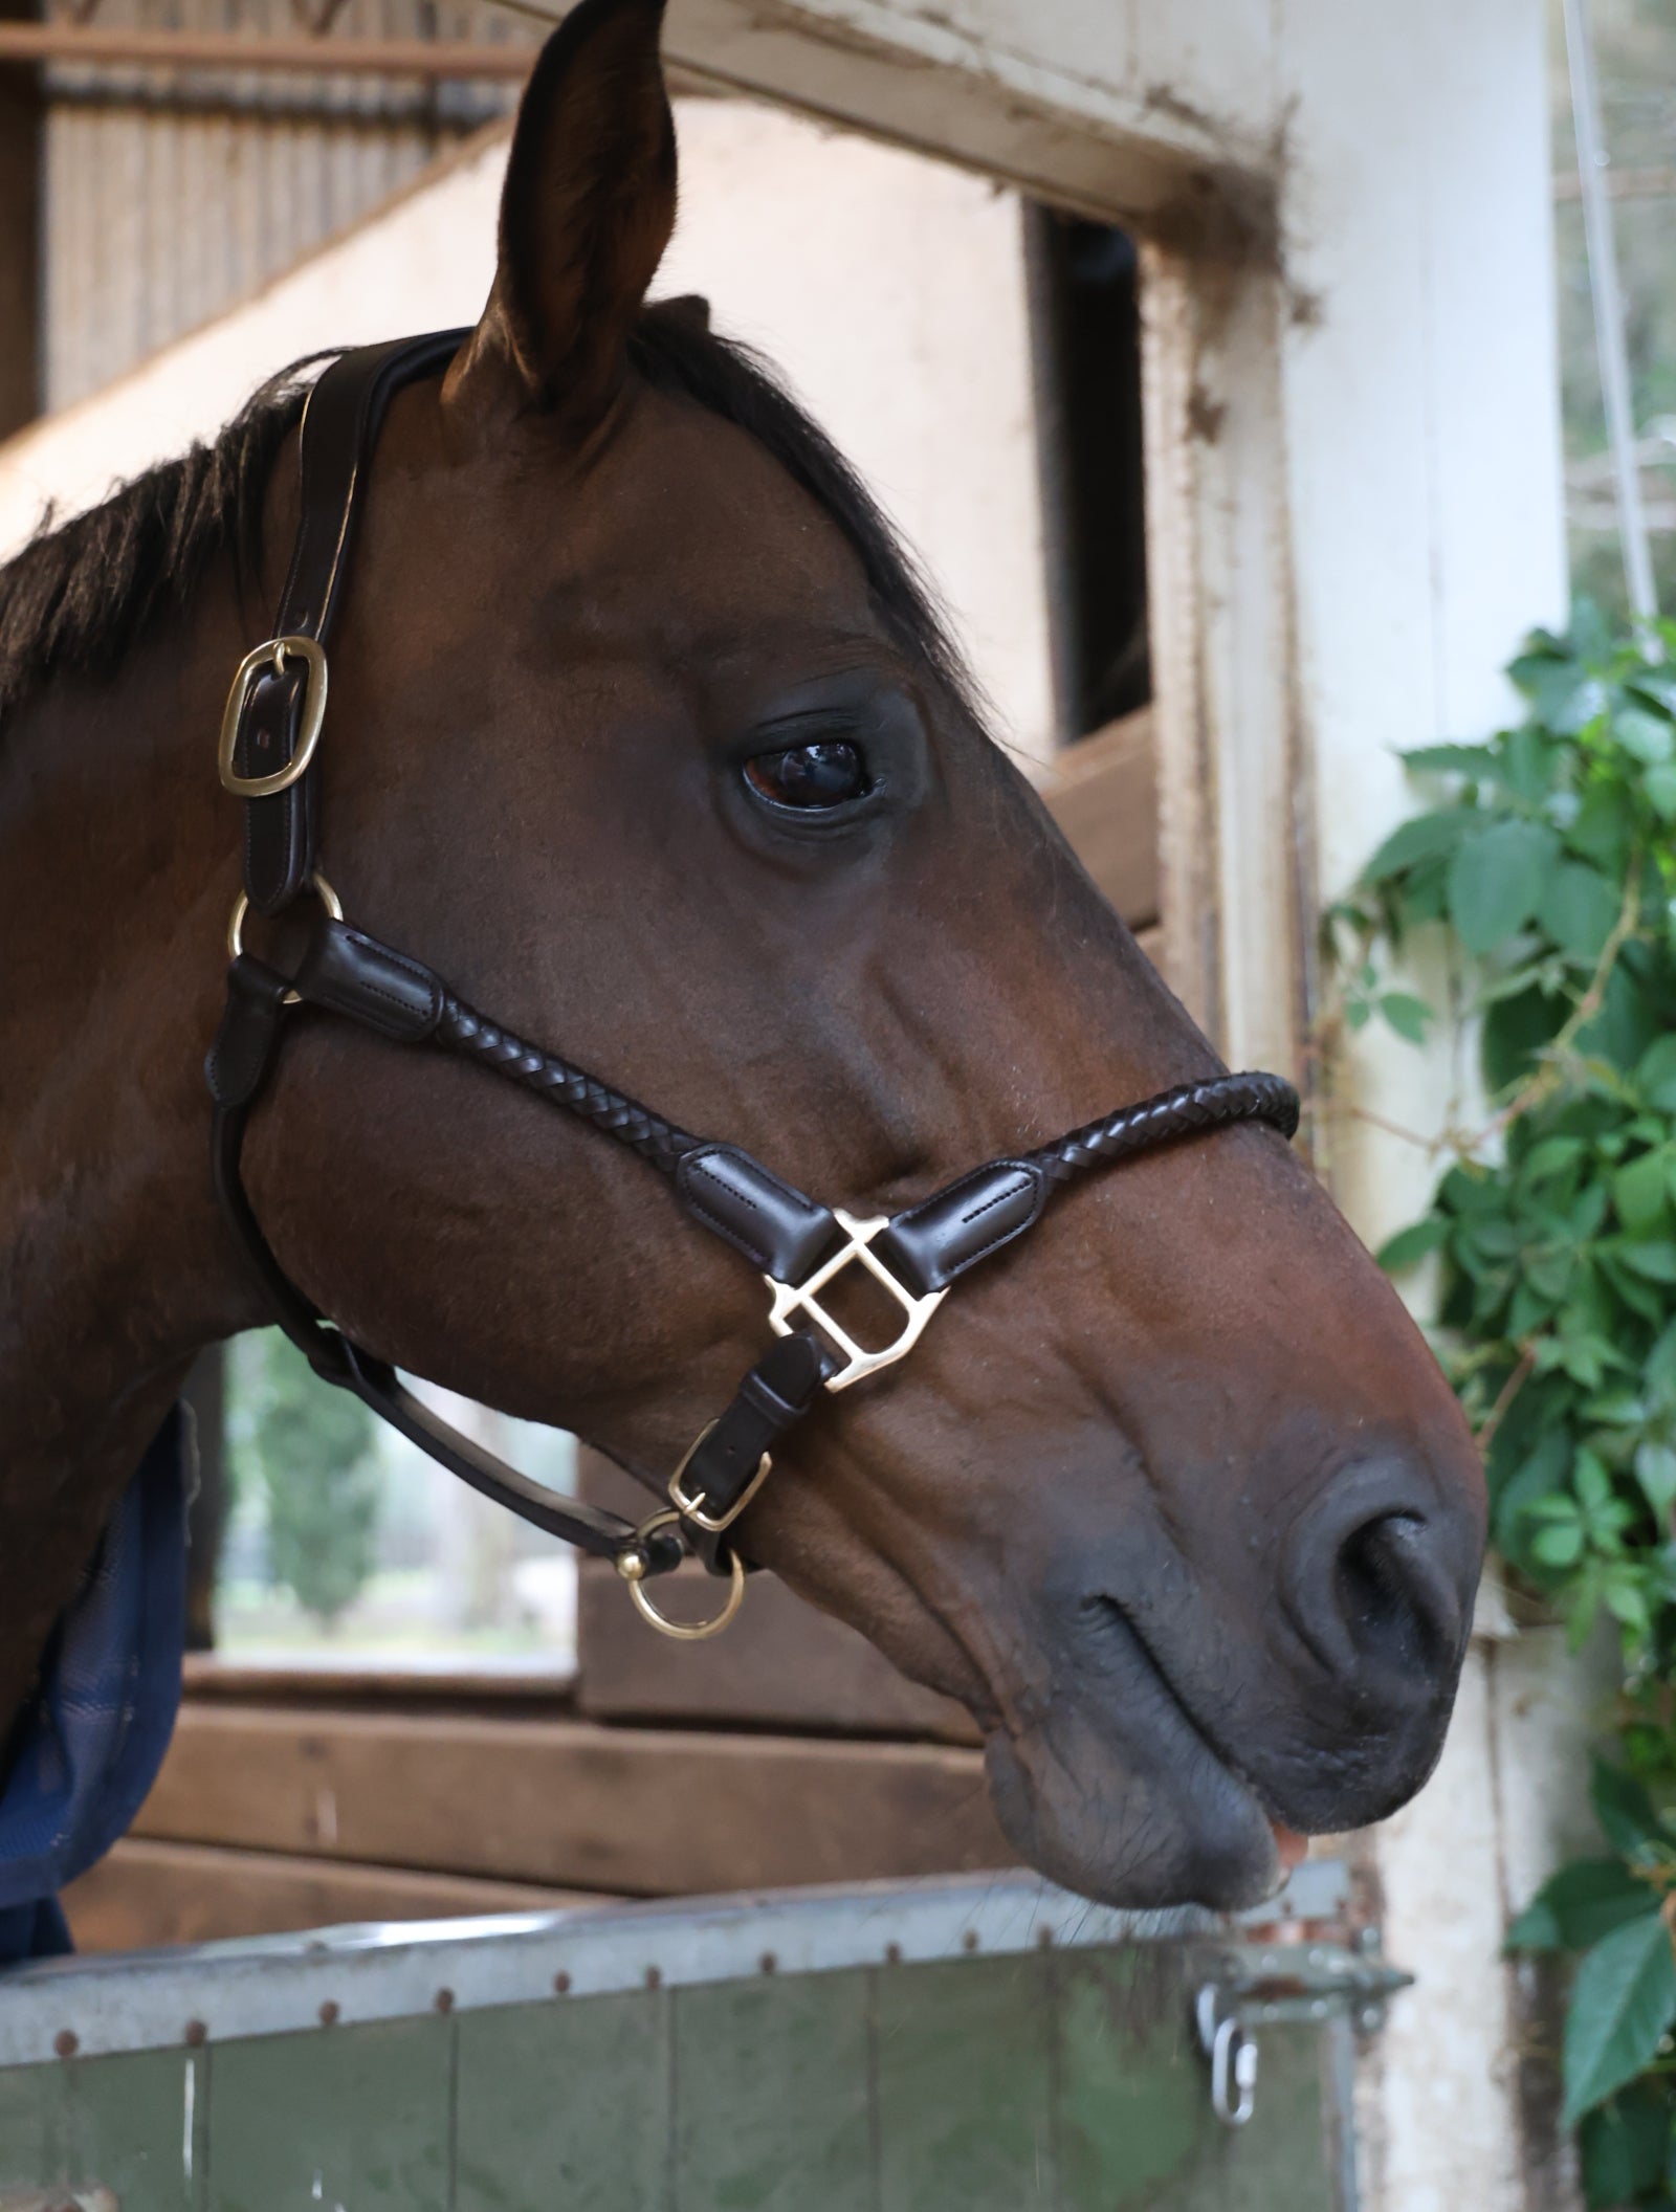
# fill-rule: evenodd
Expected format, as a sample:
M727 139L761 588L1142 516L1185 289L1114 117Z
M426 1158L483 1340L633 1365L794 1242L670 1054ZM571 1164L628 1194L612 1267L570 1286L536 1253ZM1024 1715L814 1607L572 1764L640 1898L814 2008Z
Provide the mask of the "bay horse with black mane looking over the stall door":
M845 462L699 303L648 305L659 29L584 0L548 40L482 321L389 405L327 865L520 1035L884 1217L1223 1071ZM239 874L214 730L298 529L303 389L0 575L0 1730L195 1354L270 1318L201 1066ZM752 1272L513 1086L310 1006L287 1037L243 1155L285 1276L661 1484L761 1352ZM1271 1126L1090 1179L781 1462L750 1557L966 1703L1008 1838L1079 1891L1251 1902L1437 1759L1477 1453Z

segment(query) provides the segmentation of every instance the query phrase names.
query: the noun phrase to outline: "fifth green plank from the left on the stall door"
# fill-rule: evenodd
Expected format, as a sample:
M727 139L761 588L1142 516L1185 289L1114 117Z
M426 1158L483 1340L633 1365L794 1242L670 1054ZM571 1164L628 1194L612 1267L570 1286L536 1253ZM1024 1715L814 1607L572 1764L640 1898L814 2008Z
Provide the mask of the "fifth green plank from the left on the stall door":
M1048 1960L876 1982L880 2212L1050 2212Z

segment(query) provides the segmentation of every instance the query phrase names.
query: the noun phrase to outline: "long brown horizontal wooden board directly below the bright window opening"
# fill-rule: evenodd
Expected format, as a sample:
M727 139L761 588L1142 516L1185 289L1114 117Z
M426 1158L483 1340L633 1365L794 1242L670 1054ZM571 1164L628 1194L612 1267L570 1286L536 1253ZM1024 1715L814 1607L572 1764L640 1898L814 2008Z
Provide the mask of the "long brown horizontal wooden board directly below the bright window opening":
M135 1834L621 1893L1013 1865L977 1752L184 1705Z

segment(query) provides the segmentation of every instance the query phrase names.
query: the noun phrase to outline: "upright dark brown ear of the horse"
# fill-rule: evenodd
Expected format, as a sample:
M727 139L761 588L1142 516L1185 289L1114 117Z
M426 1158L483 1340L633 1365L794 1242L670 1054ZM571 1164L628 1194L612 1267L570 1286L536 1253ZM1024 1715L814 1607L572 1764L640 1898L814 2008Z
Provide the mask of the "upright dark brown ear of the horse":
M500 265L451 396L511 367L522 398L586 427L674 230L663 0L582 0L535 62L500 197Z

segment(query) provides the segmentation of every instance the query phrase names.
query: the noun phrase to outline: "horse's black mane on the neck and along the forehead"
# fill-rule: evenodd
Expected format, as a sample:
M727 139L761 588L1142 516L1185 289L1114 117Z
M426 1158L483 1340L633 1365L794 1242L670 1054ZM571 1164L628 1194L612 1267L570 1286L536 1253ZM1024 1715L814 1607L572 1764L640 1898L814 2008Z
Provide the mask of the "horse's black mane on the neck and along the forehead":
M973 679L935 593L862 480L750 347L685 312L648 307L630 352L661 392L685 394L736 422L838 522L898 639L975 710ZM0 719L51 677L111 677L146 630L192 597L203 568L230 555L243 584L261 555L263 491L303 414L325 356L265 383L212 445L195 445L104 504L42 531L0 568Z

